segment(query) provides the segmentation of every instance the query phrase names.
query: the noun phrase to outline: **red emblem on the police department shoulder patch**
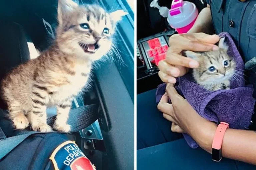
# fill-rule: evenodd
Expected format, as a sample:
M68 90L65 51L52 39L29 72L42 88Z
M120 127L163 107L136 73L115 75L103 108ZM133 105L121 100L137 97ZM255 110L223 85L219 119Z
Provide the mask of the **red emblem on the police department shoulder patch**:
M75 159L71 165L71 170L94 170L91 162L86 157L79 157Z

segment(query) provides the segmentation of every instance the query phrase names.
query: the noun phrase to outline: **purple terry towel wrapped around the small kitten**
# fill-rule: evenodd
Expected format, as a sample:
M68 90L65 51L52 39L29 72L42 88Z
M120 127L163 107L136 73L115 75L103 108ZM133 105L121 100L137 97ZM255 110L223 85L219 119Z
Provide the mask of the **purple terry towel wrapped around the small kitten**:
M226 37L225 42L229 45L228 54L234 57L236 70L244 70L244 62L230 35L224 32L219 36ZM157 103L165 93L165 87L166 84L157 87ZM203 118L216 124L227 122L230 128L248 129L254 113L255 100L252 96L253 87L252 85L245 86L244 78L232 80L230 90L210 92L194 83L193 76L189 73L178 78L175 88ZM183 135L190 147L199 147L191 136Z

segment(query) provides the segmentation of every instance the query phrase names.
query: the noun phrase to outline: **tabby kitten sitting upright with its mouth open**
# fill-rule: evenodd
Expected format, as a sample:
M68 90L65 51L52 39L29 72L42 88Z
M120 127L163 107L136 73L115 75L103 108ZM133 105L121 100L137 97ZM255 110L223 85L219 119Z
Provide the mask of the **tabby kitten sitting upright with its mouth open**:
M49 132L46 108L57 107L53 128L69 132L73 97L86 85L92 62L110 52L118 21L126 13L107 13L98 5L59 0L56 42L35 59L13 69L2 81L3 98L17 129L31 125Z

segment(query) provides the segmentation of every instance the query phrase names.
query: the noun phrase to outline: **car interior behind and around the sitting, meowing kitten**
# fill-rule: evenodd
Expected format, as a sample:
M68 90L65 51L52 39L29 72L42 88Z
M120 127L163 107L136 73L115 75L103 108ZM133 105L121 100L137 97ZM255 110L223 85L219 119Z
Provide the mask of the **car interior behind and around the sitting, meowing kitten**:
M134 169L133 9L126 0L79 0L78 3L98 3L107 11L123 9L128 15L117 27L115 39L120 55L114 56L113 61L96 63L91 87L72 104L74 114L93 106L90 118L93 122L87 128L72 133L71 137L75 138L97 170ZM57 4L57 0L1 1L1 25L11 23L15 27L0 29L0 78L18 64L37 57L37 51L47 49L54 42ZM17 52L24 58L10 57ZM1 108L5 109L3 103ZM54 114L54 108L47 110L48 118ZM81 119L86 121L87 117Z

